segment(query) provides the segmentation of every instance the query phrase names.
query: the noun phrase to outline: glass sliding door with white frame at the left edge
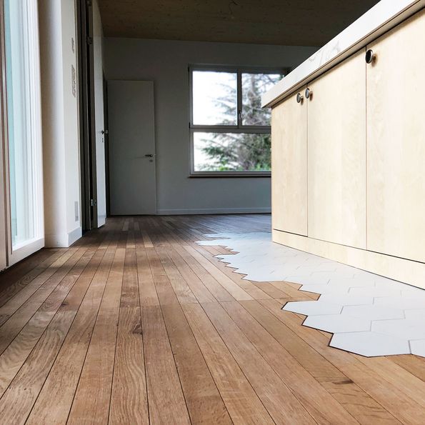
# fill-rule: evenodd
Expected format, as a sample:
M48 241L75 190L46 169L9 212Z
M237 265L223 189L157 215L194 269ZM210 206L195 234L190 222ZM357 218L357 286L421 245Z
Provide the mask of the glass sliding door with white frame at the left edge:
M3 0L9 265L44 245L36 0Z

